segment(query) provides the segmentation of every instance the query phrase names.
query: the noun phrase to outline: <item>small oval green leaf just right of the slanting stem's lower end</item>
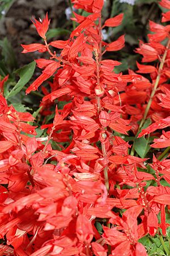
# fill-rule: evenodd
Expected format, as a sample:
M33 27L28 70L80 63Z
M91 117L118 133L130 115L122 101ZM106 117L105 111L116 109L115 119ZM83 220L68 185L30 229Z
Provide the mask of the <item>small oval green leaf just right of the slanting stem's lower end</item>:
M141 158L144 158L148 150L150 150L150 146L148 145L148 141L144 137L141 137L135 141L134 149Z

